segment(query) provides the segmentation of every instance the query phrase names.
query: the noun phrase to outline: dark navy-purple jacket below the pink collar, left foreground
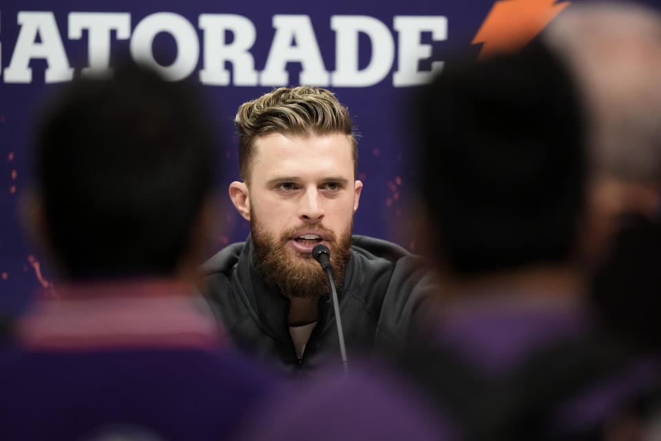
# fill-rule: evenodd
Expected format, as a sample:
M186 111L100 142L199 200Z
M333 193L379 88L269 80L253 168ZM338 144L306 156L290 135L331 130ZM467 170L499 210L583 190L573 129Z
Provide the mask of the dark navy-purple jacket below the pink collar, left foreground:
M170 343L19 340L0 353L0 438L78 439L123 421L167 439L227 438L280 381L231 345Z

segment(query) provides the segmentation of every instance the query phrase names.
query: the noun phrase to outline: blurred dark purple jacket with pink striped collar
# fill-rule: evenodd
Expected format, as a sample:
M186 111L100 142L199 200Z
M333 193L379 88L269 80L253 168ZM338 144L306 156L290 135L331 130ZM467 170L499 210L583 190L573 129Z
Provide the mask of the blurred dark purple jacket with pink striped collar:
M0 352L0 439L231 437L273 378L229 348L195 292L88 284L34 305Z

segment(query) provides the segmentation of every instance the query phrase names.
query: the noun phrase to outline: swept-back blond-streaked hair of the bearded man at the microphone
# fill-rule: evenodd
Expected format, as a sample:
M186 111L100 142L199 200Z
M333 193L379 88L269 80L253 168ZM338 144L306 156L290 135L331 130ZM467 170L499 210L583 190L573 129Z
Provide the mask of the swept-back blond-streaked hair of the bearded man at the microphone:
M354 175L357 172L358 149L349 111L326 89L301 85L273 90L243 103L234 124L239 134L239 172L243 181L249 179L255 139L273 132L288 136L346 134L351 142Z

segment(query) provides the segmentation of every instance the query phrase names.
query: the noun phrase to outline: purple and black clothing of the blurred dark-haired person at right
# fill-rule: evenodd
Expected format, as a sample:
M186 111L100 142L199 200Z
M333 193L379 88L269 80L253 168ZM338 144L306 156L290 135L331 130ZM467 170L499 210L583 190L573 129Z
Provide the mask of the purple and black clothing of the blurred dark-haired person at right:
M659 402L658 358L613 339L578 308L472 305L437 331L399 369L451 411L466 439L574 439L621 417L644 423Z

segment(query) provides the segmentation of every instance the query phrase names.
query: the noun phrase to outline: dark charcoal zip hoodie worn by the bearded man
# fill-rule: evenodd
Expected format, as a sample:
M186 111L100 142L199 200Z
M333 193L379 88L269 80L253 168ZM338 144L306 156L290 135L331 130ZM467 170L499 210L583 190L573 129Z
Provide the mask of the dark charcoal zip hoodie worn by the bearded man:
M319 299L319 319L299 360L287 324L290 302L266 283L251 250L249 237L202 265L202 291L238 346L289 372L339 360L330 296ZM344 286L337 293L348 353L407 345L435 289L423 258L386 240L353 236Z

